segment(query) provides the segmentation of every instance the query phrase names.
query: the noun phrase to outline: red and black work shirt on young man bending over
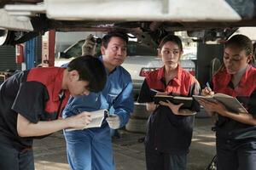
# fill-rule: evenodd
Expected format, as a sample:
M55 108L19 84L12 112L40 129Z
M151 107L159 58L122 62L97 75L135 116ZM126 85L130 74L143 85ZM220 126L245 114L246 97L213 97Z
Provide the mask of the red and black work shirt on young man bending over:
M20 71L3 82L0 88L0 138L4 135L19 149L30 147L32 138L21 138L17 133L17 113L34 123L58 118L63 71L64 68L56 67L34 68ZM67 104L67 90L65 95L62 109Z

